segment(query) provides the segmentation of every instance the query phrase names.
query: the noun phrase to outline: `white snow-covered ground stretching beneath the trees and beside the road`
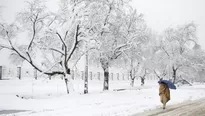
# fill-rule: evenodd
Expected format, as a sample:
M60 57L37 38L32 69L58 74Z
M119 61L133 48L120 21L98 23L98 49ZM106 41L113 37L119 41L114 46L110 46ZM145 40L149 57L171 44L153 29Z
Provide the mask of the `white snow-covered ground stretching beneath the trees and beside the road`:
M86 95L83 81L73 83L75 92L67 95L63 80L2 80L0 111L27 110L15 116L129 116L161 107L157 80L146 81L143 87L136 80L134 89L129 87L129 81L110 81L110 90L104 92L102 81L89 81ZM123 88L127 90L114 91ZM167 105L202 97L205 97L205 85L184 86L171 90Z

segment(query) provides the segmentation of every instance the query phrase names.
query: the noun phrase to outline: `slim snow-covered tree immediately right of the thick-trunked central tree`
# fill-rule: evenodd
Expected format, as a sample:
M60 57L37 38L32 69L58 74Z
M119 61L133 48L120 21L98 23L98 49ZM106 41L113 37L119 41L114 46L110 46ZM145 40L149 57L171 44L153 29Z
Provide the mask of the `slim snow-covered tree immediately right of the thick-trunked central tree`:
M135 78L140 76L139 74L142 73L143 69L148 69L150 66L148 65L151 58L151 46L149 45L149 41L152 38L152 32L147 28L146 24L144 24L145 22L142 17L139 18L138 16L137 18L137 14L132 14L132 16L135 16L138 22L134 24L137 27L137 30L134 32L136 36L132 43L132 47L129 50L126 50L124 55L129 67L128 72L131 79L130 85L134 86Z

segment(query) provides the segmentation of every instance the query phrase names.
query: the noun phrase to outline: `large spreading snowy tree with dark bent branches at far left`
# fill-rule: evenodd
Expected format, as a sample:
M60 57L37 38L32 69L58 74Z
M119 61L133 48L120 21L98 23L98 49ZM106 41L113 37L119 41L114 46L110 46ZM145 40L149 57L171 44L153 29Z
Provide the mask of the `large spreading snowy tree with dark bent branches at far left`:
M80 47L84 27L82 25L86 12L86 3L80 1L62 1L59 13L49 13L44 3L39 0L28 2L28 9L19 13L20 26L27 27L31 37L28 43L17 45L18 27L1 25L1 35L9 44L2 45L31 64L39 72L53 76L63 75L67 93L69 93L70 60ZM67 7L66 7L67 6ZM83 17L83 18L82 18ZM38 53L38 54L37 54ZM41 56L42 61L36 57Z

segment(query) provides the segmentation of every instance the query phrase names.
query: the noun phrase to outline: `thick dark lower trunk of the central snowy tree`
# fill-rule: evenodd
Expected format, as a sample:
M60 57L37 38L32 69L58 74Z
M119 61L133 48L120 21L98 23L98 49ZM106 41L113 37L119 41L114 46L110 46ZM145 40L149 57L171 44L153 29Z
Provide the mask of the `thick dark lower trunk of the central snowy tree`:
M103 90L109 90L109 67L108 65L103 68L104 71L104 84Z

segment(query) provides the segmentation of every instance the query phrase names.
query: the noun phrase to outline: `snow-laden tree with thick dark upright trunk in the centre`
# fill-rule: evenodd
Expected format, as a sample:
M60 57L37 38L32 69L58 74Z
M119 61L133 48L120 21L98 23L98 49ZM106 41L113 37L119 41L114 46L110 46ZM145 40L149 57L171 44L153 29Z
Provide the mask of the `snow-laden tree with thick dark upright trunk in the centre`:
M140 28L144 25L142 15L138 15L130 7L127 9L131 12L126 14L125 4L127 4L125 1L113 0L102 6L107 9L102 16L104 17L101 20L103 28L99 31L98 38L100 43L99 60L104 71L103 90L109 89L109 67L111 64L130 49L134 45L133 43L136 45L140 43L138 34L143 36L143 32L141 32L143 29Z

